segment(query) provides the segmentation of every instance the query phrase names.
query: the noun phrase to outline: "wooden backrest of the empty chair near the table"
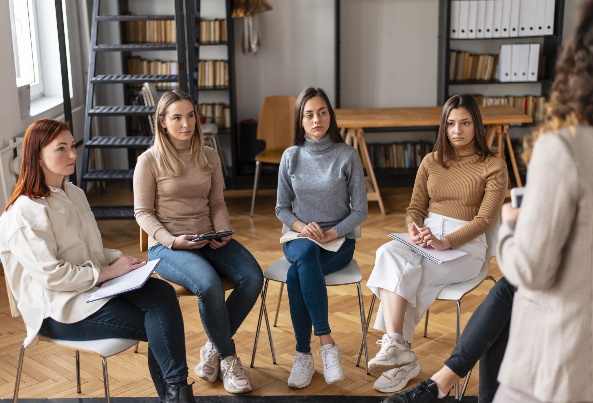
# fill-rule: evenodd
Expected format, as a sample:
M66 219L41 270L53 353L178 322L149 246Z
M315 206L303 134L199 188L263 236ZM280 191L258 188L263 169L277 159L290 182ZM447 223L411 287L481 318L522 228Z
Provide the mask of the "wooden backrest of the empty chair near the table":
M266 142L266 149L292 146L295 103L297 98L292 95L264 98L257 122L257 139Z

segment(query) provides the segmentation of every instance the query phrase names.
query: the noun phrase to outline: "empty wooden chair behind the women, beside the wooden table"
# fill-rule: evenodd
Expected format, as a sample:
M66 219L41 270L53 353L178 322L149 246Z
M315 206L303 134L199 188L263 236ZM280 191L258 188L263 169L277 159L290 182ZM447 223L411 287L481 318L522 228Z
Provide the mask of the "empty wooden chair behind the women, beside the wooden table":
M294 108L297 98L292 95L277 95L263 100L259 121L257 121L257 139L266 142L266 149L256 155L256 173L253 178L253 196L251 196L251 217L256 204L257 185L262 171L262 164L280 164L282 153L292 146L294 130Z

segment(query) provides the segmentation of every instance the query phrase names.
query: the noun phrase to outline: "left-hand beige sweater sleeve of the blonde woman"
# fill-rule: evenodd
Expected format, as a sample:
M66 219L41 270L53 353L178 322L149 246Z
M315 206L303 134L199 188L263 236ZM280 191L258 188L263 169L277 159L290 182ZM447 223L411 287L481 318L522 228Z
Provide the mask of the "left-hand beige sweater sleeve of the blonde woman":
M149 152L149 151L148 151ZM145 152L139 156L134 169L134 217L146 234L155 241L171 248L176 236L171 235L167 228L158 220L154 213L154 196L157 189L157 178Z

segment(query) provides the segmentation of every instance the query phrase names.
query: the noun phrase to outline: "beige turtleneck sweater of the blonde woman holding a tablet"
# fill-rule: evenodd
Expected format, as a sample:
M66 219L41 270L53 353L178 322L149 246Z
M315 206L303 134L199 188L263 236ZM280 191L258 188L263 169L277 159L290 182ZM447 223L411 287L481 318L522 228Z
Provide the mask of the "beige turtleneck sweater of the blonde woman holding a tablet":
M179 235L231 229L218 153L205 147L212 167L200 168L191 160L189 140L171 142L185 164L178 177L159 171L151 149L138 157L134 169L134 216L149 236L149 247L171 248Z

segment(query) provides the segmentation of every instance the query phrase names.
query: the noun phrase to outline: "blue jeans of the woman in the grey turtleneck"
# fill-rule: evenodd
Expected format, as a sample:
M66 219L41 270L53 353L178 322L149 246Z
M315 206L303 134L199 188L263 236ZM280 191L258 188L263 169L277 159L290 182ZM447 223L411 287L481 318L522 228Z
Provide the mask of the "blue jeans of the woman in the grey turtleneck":
M324 276L350 263L355 243L354 239L346 238L337 252L320 248L308 239L294 239L284 244L284 255L291 263L286 274L286 289L297 351L311 351L312 326L316 336L331 333Z

